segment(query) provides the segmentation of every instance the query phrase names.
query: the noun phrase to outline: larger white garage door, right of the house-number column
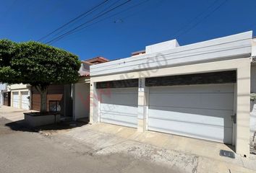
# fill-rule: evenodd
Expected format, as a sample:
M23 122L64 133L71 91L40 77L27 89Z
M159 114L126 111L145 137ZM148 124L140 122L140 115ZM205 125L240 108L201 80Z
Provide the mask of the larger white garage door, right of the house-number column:
M232 143L234 84L150 87L148 129Z

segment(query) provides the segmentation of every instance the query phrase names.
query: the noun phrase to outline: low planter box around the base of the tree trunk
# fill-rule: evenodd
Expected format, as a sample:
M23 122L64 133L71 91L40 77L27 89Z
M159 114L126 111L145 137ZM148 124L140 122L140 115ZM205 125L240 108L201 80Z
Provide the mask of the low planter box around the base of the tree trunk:
M24 113L25 123L31 127L59 123L61 115L51 114L40 115L39 112Z

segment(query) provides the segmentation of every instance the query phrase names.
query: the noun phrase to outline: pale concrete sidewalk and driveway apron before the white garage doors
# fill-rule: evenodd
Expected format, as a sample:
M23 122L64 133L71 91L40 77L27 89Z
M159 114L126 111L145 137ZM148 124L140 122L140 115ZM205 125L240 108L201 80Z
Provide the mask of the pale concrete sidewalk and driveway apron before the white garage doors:
M65 145L72 146L74 150L80 148L78 152L89 152L92 155L132 154L137 158L148 158L158 164L184 167L184 172L192 168L196 169L195 172L204 173L256 171L254 156L250 159L239 155L236 155L235 159L219 156L221 149L232 151L223 143L152 131L138 133L135 128L104 123L59 130L51 135L53 138L66 136ZM90 147L90 150L83 151L81 146Z

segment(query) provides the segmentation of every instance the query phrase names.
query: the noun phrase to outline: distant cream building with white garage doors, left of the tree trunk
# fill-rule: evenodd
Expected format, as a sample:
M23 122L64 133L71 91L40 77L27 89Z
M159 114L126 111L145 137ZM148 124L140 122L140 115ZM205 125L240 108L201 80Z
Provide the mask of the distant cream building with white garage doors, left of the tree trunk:
M30 86L27 84L12 84L9 85L11 94L11 107L19 108L22 110L30 110Z

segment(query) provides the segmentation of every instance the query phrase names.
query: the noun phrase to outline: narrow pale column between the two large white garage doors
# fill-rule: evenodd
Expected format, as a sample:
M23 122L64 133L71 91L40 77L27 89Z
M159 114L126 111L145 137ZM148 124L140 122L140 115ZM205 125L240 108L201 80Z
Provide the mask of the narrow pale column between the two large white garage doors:
M145 86L145 78L139 79L138 88L138 114L137 130L143 132L147 129L148 116L148 87Z

